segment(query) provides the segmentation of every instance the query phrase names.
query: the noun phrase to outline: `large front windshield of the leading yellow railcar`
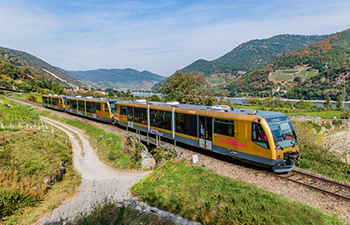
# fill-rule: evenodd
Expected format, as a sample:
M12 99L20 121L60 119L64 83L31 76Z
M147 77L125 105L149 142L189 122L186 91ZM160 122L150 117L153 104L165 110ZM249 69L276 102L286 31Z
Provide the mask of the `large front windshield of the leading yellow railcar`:
M267 119L276 149L297 145L297 138L292 123L287 116Z

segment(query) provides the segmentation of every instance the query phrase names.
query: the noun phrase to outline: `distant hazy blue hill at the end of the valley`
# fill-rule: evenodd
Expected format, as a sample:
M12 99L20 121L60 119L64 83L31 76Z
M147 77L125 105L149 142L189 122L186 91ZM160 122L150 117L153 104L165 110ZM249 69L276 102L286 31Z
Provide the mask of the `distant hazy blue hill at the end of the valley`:
M68 74L86 86L114 89L151 89L165 77L134 69L98 69L69 71Z

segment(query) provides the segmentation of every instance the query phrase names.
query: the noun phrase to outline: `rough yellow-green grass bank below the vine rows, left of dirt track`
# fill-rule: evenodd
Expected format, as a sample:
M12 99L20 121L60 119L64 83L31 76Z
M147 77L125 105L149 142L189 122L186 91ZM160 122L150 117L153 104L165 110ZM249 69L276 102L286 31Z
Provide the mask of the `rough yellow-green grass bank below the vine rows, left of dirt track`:
M37 129L0 131L0 218L32 224L47 212L47 202L61 204L77 188L72 147L65 144L67 136L58 130L54 134ZM62 160L67 173L61 182L48 187L44 177L55 175Z

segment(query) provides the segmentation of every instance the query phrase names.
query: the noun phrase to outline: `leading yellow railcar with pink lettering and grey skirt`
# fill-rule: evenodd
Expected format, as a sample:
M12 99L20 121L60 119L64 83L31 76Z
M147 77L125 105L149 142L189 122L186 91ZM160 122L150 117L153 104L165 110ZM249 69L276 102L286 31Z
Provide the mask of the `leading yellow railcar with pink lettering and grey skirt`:
M175 102L117 102L118 123L208 151L272 168L295 166L299 147L289 118L278 112Z

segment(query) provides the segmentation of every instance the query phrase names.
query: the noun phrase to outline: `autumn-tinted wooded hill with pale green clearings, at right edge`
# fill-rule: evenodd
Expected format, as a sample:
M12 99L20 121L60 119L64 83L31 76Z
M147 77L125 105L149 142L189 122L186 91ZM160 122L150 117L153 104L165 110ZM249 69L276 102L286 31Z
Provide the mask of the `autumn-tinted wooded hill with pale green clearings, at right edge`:
M271 92L280 86L289 98L336 99L349 95L349 76L350 29L265 64L234 81L228 90L234 96Z

